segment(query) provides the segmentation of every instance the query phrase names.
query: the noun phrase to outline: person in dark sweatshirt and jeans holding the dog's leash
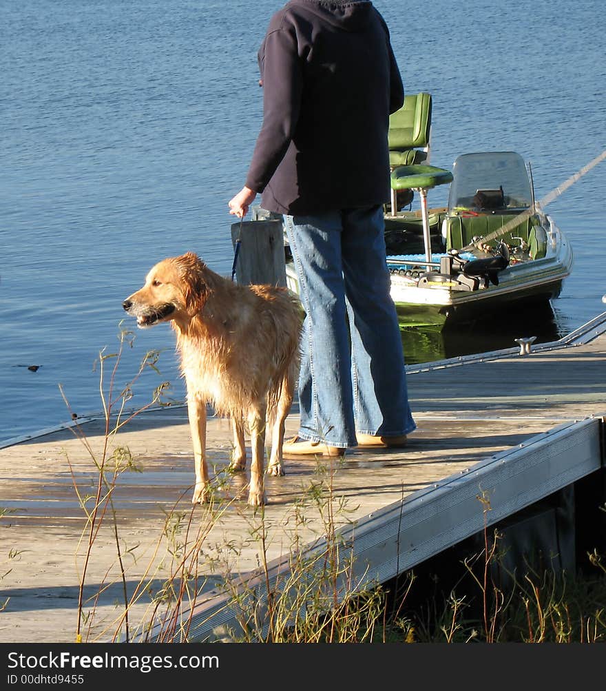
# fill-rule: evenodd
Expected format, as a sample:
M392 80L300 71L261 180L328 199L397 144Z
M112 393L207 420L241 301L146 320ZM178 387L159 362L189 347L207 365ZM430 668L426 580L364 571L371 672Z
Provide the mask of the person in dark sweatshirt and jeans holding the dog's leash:
M406 445L416 428L386 263L389 115L404 86L388 27L369 0L293 0L269 21L258 53L263 125L243 218L283 214L305 322L299 435L285 455L337 456Z

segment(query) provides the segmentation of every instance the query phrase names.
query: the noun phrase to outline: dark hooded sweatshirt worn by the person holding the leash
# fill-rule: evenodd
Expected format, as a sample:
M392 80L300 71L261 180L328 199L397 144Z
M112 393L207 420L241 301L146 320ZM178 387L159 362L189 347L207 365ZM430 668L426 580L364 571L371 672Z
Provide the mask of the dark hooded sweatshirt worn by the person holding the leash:
M367 0L292 0L258 53L263 125L246 185L261 206L307 215L388 201L389 115L404 87Z

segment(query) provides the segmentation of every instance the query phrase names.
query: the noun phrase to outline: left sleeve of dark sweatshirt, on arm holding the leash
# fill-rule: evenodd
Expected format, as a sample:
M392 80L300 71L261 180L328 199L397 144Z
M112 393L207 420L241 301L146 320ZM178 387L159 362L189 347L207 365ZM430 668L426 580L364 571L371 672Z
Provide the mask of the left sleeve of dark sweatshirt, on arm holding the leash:
M288 149L299 119L302 74L294 32L269 28L258 55L263 78L263 124L246 186L263 192Z

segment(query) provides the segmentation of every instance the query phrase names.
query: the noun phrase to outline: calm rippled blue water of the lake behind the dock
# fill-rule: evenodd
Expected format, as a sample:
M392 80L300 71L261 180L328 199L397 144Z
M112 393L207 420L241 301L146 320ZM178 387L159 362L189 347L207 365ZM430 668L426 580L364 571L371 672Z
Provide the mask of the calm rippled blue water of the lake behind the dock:
M0 4L0 441L69 419L59 384L79 415L101 409L95 360L116 351L122 300L153 263L191 249L231 271L227 202L261 122L256 51L281 4ZM375 5L406 88L433 94L433 164L520 151L542 198L605 149L603 3ZM603 311L605 196L603 162L548 208L575 252L553 305L562 334ZM136 332L116 386L151 349L161 373L140 379L137 400L164 380L182 398L165 325Z

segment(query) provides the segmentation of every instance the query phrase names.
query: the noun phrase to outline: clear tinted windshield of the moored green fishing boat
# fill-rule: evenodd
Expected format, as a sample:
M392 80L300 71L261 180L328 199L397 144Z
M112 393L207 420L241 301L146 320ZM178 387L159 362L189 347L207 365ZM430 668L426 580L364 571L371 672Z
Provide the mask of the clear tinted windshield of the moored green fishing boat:
M465 153L453 164L448 210L520 211L532 204L524 159L515 151Z

